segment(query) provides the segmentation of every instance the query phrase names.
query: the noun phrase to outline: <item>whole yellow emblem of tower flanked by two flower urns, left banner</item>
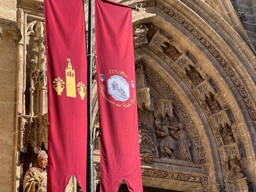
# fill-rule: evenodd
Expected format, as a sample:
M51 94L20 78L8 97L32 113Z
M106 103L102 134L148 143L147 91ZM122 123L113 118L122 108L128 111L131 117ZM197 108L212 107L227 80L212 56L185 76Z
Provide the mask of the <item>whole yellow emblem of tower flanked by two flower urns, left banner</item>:
M55 78L55 80L53 81L54 85L54 89L57 92L57 95L61 95L63 89L65 88L64 84L66 84L66 93L67 93L67 97L74 97L76 98L76 77L75 77L75 70L72 68L71 65L71 59L67 59L68 60L68 67L66 67L65 70L65 76L66 76L66 83L63 81L63 79L61 79L60 77ZM77 91L79 92L79 95L81 97L82 100L84 100L85 94L86 94L86 87L83 84L83 82L78 82L77 87L79 87L77 89Z

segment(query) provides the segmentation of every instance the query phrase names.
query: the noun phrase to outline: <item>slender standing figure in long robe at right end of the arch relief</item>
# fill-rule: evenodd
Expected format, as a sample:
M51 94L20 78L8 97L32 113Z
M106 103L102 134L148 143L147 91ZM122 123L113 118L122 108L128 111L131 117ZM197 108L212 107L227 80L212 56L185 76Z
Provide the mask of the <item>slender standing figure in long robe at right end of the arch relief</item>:
M183 129L183 124L180 122L178 123L178 128L179 130L177 131L176 135L178 137L177 140L179 158L184 161L192 162L191 154L189 151L191 144L188 141L187 133Z

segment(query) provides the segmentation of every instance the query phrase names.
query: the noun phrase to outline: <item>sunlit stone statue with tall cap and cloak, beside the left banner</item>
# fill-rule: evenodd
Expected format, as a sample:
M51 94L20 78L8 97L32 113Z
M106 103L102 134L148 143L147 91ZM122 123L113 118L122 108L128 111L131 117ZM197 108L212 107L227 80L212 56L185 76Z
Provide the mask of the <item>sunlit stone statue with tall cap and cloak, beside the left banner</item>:
M46 192L47 172L46 165L48 156L45 151L41 151L37 157L37 163L30 167L23 180L24 192Z

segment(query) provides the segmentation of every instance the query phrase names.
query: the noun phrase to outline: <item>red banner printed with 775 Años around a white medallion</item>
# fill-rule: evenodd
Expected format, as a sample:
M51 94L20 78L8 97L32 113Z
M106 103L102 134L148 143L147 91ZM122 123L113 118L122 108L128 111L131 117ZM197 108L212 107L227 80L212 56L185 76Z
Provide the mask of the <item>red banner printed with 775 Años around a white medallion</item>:
M117 192L123 178L129 191L143 191L129 7L95 0L101 192Z

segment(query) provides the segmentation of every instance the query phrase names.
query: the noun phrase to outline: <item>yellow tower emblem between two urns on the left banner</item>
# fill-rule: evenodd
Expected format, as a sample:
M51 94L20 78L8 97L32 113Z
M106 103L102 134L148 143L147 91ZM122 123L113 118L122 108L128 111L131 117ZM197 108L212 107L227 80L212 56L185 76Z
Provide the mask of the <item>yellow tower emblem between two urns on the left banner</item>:
M69 61L68 68L66 68L66 89L68 97L76 97L76 79L75 79L75 70L72 69L72 65Z

